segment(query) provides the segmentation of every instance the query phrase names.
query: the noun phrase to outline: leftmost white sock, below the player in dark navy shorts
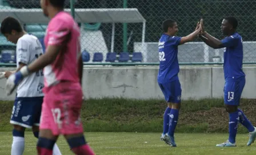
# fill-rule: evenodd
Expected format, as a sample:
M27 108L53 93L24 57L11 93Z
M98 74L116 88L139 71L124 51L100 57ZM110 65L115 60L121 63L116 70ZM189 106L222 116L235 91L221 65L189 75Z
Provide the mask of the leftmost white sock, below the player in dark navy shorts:
M22 155L25 148L24 137L13 137L13 145L11 145L11 155Z

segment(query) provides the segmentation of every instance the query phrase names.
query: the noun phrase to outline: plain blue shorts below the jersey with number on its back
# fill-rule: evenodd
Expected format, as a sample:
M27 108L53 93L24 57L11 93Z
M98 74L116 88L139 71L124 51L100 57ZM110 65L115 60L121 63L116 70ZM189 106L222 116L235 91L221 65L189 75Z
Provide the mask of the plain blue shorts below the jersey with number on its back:
M181 103L181 83L179 80L170 83L158 83L161 88L165 100L169 103Z

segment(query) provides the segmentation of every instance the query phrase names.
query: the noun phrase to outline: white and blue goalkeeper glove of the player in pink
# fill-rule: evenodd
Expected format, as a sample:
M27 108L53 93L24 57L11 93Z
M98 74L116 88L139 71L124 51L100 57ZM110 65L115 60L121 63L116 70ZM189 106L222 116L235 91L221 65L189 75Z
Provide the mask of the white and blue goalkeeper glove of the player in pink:
M15 74L11 74L6 81L6 86L5 86L6 94L8 96L11 95L11 93L13 93L17 85L21 83L23 78L26 77L27 75L29 75L29 70L27 69L27 66L22 67L21 70L19 70L18 72L15 72Z

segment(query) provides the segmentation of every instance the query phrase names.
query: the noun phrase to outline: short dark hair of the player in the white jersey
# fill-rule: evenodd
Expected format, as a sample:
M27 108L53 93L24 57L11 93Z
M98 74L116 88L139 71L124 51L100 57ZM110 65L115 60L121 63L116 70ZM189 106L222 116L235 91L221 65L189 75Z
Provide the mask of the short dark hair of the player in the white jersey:
M11 31L15 30L17 32L22 32L23 28L21 23L13 17L6 17L1 23L1 33L2 34L11 34Z

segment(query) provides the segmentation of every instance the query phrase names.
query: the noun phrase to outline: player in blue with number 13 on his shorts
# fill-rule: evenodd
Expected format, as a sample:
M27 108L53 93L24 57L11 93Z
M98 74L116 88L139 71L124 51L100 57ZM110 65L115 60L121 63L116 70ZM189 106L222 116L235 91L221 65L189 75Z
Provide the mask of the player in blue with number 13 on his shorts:
M256 138L256 128L246 118L245 114L238 109L239 100L245 87L245 73L242 70L243 41L237 32L238 21L234 17L226 17L222 21L221 30L226 38L219 40L204 31L201 19L202 31L199 38L212 48L224 48L224 102L226 111L229 113L229 140L216 146L236 146L235 136L238 123L246 127L250 133L247 146L251 145Z

